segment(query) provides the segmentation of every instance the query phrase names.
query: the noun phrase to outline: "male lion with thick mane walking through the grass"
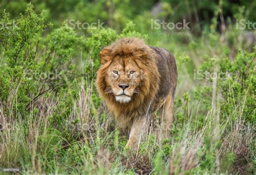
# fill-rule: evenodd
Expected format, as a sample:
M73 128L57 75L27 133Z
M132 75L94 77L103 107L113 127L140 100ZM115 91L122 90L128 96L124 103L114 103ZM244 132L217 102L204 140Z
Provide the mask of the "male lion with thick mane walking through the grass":
M99 57L96 86L119 127L130 130L126 146L137 148L157 109L163 135L168 136L177 85L173 55L142 39L123 38L103 48Z

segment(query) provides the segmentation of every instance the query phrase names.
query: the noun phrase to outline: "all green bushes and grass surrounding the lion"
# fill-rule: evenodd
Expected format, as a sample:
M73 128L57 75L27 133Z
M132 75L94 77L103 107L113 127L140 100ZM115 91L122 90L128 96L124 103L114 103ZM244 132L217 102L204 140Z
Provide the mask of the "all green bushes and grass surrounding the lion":
M254 1L169 0L159 13L155 1L31 3L0 6L1 171L255 173L255 29L235 23L256 22ZM103 27L72 27L98 19ZM190 30L155 29L151 19L186 19ZM124 149L95 88L99 51L122 37L164 47L178 65L170 138L152 126L138 152Z

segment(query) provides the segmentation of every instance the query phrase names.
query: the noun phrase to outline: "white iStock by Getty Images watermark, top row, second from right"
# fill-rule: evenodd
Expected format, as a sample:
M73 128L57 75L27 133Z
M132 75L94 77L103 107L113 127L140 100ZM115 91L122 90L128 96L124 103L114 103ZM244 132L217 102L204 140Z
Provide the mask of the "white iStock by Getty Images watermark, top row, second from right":
M183 19L183 22L165 22L164 20L160 19L151 19L151 34L152 35L158 35L158 34L176 34L176 35L186 35L188 32L183 32L179 30L190 30L190 27L188 26L190 22L186 22L185 19ZM163 31L160 31L162 29ZM176 29L177 31L173 31ZM153 31L157 30L157 31Z

